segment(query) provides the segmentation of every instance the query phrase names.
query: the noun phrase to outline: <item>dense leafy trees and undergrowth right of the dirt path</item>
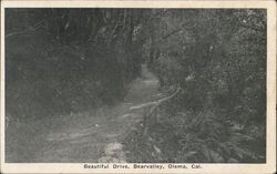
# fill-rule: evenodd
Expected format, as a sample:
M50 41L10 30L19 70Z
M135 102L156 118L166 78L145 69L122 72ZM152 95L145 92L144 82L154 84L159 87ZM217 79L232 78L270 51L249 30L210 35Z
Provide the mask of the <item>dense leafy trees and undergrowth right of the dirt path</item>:
M132 161L265 162L266 12L153 16L148 66L161 90L183 92L162 106L162 121L153 123L146 141L130 135Z

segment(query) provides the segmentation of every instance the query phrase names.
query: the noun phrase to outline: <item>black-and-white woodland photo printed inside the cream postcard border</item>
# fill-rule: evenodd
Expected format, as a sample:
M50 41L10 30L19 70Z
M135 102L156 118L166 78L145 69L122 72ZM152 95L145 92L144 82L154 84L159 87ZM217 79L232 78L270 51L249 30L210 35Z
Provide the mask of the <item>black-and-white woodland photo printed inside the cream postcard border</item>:
M267 9L2 13L4 163L268 162Z

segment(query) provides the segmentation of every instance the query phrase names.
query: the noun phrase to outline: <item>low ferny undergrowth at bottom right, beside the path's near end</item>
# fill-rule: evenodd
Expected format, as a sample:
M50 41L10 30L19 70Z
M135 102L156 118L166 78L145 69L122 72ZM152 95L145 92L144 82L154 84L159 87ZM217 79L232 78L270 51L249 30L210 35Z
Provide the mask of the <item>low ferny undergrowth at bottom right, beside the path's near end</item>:
M265 152L258 151L263 149L260 145L265 145L260 143L261 137L255 137L256 133L249 134L246 127L239 127L238 123L225 120L208 111L179 112L174 116L164 115L158 124L152 124L146 136L143 135L143 126L140 124L125 139L129 161L132 163L265 161ZM259 147L255 149L257 145Z

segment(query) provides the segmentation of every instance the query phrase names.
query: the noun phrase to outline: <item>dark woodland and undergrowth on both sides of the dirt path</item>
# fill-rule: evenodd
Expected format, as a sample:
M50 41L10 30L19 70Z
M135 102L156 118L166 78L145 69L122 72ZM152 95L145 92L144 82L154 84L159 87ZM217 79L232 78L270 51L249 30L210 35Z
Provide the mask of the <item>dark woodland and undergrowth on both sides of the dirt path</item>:
M6 9L6 116L114 105L147 64L182 93L130 162L264 163L266 35L256 9Z

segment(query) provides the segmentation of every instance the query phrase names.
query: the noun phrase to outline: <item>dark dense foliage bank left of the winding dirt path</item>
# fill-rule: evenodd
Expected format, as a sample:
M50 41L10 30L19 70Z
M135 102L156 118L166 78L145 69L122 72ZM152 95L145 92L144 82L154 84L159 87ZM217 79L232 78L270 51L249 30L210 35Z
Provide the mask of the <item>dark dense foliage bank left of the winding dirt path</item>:
M141 71L140 16L131 9L7 9L7 111L58 114L122 100Z

